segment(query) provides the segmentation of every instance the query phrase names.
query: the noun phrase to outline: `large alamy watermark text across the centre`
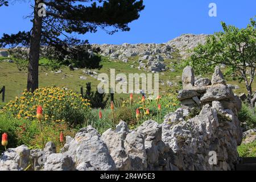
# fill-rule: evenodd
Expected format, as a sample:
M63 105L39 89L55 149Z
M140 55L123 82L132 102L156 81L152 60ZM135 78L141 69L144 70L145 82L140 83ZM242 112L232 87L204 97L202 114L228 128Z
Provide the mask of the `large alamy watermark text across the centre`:
M110 69L110 77L106 73L101 73L97 80L101 81L97 86L99 93L144 93L154 96L159 94L159 73L129 73L128 75L118 73L115 75L115 69Z

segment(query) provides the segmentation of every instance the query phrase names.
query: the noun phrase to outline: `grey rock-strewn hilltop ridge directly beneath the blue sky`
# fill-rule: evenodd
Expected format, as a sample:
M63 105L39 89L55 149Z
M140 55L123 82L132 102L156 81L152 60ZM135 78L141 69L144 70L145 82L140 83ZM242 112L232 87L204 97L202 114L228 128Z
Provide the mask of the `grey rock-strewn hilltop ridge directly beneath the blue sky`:
M204 44L207 35L184 34L163 44L94 44L101 49L101 55L111 60L121 60L125 63L130 57L136 57L139 62L138 69L151 72L162 72L168 69L164 60L174 59L174 53L179 54L181 59L186 59L189 50L198 44Z

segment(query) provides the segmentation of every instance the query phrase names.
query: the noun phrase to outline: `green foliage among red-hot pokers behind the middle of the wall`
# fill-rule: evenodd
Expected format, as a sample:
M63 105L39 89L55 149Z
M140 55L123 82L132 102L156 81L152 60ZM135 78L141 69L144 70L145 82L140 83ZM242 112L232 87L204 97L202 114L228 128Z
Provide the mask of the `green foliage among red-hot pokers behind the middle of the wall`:
M145 108L150 110L149 115L144 113L146 110L143 110L141 97L135 98L135 94L133 105L130 105L129 100L123 101L120 106L118 103L119 102L116 102L114 107L115 125L117 125L120 120L123 120L129 125L130 129L135 129L148 119L162 123L164 115L174 112L177 108L180 107L180 102L177 100L176 94L174 93L167 94L167 96L163 96L160 99L159 104L162 105L161 118L160 112L158 112L157 109L158 106L156 100L147 100L145 103ZM141 111L141 118L139 119L139 122L136 118L137 108L139 108ZM112 110L109 109L109 106L106 106L106 108L101 110L101 112L102 119L99 118L99 110L92 109L91 114L84 124L84 127L92 125L98 130L99 133L103 133L109 128L113 129Z

